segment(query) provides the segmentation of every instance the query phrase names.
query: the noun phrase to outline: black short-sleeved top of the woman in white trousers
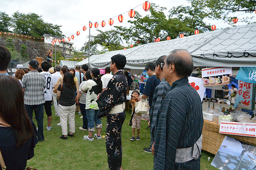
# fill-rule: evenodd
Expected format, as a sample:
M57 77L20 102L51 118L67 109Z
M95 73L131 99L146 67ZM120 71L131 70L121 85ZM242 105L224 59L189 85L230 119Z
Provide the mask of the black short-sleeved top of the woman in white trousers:
M61 96L59 98L59 104L62 106L72 106L75 105L75 93L76 88L67 88L66 83L62 83L62 91L61 84L58 86L57 90L61 91Z

